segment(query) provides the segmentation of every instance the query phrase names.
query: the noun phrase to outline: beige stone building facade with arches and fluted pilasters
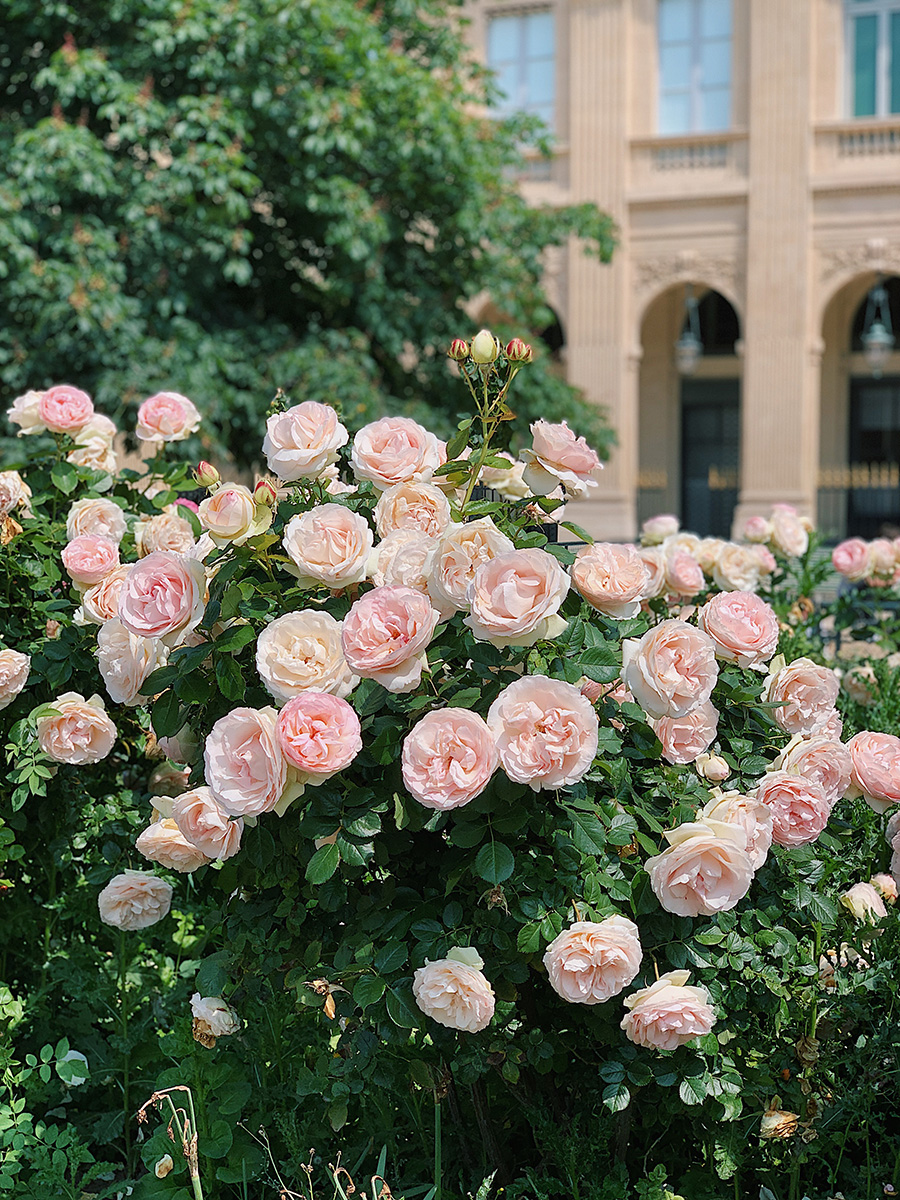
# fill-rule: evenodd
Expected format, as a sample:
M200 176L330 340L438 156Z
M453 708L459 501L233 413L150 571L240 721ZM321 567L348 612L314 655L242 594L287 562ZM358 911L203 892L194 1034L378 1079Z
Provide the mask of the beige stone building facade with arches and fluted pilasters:
M726 128L667 136L658 132L661 2L469 5L473 46L488 60L492 20L552 14L556 157L522 186L539 204L593 200L618 224L610 265L575 247L548 263L568 377L605 406L619 439L600 498L578 520L629 539L650 511L684 515L695 500L706 511L702 494L686 499L691 482L736 488L730 521L778 502L820 510L833 535L848 522L857 532L853 512L896 510L900 521L898 467L883 449L894 436L882 431L872 451L869 428L882 409L900 422L900 353L875 400L866 392L862 434L851 413L854 386L871 379L852 350L854 316L880 276L900 275L900 115L852 115L847 47L856 12L889 20L900 2L862 0L854 12L860 0L678 0L728 5L730 110ZM686 284L700 298L719 293L739 336L726 353L704 353L685 383L674 343ZM690 424L696 396L709 403ZM697 458L697 430L721 396L736 422L733 463Z

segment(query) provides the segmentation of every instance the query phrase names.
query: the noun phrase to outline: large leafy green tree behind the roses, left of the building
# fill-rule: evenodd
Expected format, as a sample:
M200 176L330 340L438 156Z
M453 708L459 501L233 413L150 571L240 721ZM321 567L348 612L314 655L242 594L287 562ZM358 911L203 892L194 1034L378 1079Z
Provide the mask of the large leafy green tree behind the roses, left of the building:
M613 245L592 205L517 194L539 134L474 115L457 4L0 0L4 390L182 391L238 456L277 385L446 433L460 302L536 332L545 247ZM602 449L550 365L526 408Z

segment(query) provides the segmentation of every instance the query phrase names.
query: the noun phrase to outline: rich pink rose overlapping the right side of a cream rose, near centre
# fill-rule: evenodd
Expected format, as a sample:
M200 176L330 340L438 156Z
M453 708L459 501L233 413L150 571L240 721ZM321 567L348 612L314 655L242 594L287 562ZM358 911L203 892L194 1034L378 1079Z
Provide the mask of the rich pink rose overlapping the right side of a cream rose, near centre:
M425 652L437 623L438 613L421 592L374 588L344 617L341 644L347 664L388 691L412 691L427 666Z

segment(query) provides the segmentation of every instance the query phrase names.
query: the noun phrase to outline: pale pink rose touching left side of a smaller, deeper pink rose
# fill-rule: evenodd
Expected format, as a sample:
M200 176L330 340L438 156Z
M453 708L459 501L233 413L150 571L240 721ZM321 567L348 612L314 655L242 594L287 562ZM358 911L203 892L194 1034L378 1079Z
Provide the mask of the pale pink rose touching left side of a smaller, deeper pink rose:
M234 708L220 716L206 738L203 758L210 791L233 817L271 812L283 798L302 791L288 787L274 708Z

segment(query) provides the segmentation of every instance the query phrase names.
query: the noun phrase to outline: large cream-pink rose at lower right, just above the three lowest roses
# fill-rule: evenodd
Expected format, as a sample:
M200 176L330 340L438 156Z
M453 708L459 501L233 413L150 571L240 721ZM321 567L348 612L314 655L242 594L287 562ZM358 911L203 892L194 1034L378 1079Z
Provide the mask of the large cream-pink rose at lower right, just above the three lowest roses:
M694 821L666 833L668 846L644 870L654 895L679 917L727 912L750 890L754 866L744 829L722 821Z

